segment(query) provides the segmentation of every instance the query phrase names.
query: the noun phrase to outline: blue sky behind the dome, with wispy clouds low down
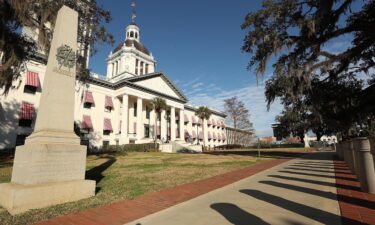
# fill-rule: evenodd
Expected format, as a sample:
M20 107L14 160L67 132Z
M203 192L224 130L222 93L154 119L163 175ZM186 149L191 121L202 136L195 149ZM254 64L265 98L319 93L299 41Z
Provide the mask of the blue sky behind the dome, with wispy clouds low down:
M131 0L99 3L112 13L106 26L116 46L130 23ZM141 42L157 60L156 71L165 72L191 104L222 110L224 99L238 96L250 109L257 135L266 136L272 135L270 124L281 106L266 111L262 82L256 84L246 69L249 55L241 52L245 32L240 26L260 6L259 0L138 0L137 24ZM105 75L105 59L115 46L100 46L90 61L94 72Z

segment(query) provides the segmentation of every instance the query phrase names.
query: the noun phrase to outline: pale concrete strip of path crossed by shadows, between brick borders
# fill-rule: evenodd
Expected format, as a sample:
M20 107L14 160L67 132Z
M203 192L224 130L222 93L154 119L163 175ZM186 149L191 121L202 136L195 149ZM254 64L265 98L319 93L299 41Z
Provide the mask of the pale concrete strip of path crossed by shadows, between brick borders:
M332 154L290 160L128 224L341 224Z

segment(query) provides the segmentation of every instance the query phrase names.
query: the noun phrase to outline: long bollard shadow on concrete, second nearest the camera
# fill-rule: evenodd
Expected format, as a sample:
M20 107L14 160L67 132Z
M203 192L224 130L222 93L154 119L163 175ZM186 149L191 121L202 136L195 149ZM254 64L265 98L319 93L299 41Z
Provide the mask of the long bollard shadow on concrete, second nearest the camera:
M243 194L247 194L258 200L268 202L280 208L305 216L322 224L340 224L341 222L341 217L338 215L320 209L316 209L307 205L296 203L276 195L252 189L244 189L240 190L240 192ZM352 219L348 219L348 222L353 224L358 223L358 221Z

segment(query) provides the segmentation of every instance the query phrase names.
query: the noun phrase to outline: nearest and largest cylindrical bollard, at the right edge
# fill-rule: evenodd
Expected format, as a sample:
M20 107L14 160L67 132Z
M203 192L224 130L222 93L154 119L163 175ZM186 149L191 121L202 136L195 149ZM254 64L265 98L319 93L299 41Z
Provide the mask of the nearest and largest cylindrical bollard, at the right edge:
M370 152L370 142L366 137L354 139L356 163L359 167L359 181L364 192L375 194L374 160Z

